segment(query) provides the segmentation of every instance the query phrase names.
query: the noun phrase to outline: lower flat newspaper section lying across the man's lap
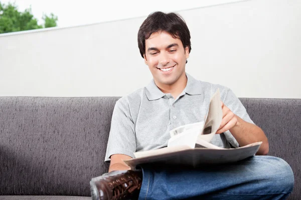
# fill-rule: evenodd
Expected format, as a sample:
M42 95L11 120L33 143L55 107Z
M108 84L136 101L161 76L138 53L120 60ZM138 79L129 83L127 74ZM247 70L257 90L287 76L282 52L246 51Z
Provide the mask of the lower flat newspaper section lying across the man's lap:
M138 156L136 158L123 160L125 164L130 166L132 169L136 165L143 163L153 164L168 164L169 166L176 165L189 165L189 166L202 166L207 164L222 164L239 161L248 157L253 156L259 149L261 141L254 142L238 148L183 148L175 149L172 147L168 150L168 147L157 149L161 150L151 155Z

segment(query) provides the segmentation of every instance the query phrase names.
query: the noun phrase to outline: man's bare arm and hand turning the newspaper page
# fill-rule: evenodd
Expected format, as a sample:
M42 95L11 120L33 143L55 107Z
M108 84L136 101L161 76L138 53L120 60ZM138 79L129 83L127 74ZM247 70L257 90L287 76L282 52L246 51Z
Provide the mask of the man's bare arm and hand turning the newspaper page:
M220 134L229 130L240 146L244 146L256 141L262 141L262 144L257 151L257 155L266 155L269 150L268 140L263 130L255 124L249 123L236 114L234 114L222 102L223 119L219 130Z

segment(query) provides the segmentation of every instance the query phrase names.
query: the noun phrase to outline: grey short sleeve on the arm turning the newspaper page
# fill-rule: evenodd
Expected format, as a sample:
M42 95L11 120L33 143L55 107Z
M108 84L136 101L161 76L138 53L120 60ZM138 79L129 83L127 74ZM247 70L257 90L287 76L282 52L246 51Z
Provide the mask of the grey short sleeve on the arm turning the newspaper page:
M222 101L234 114L236 114L243 120L254 124L254 122L251 120L250 116L248 115L245 107L243 106L241 101L236 97L236 95L231 89L226 88L226 94ZM226 139L232 144L232 146L234 147L239 146L238 142L236 141L236 139L234 138L234 136L231 134L229 130L224 132L224 134L226 136Z

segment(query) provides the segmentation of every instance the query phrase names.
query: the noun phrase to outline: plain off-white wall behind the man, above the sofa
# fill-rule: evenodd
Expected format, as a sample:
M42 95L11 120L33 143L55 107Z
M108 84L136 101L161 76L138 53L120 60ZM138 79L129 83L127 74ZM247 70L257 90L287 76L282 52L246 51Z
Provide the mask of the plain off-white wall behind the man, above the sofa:
M301 98L300 0L249 0L179 12L192 36L187 72L239 97ZM152 75L145 17L0 35L0 96L121 96Z

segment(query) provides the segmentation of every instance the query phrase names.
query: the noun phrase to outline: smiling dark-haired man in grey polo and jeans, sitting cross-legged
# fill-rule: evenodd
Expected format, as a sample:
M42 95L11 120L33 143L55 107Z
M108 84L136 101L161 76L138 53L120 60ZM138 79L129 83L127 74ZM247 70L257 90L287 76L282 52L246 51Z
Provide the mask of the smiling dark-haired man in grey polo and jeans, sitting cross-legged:
M235 94L185 72L191 43L180 15L150 14L139 28L138 47L154 79L116 102L105 158L109 173L91 180L94 199L280 199L291 192L291 168L280 158L257 156L268 153L268 140ZM165 147L171 129L204 120L218 88L223 119L211 143L230 148L262 141L256 156L198 168L144 164L129 170L122 160L133 152Z

